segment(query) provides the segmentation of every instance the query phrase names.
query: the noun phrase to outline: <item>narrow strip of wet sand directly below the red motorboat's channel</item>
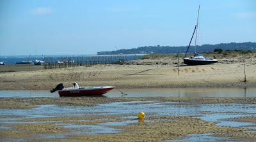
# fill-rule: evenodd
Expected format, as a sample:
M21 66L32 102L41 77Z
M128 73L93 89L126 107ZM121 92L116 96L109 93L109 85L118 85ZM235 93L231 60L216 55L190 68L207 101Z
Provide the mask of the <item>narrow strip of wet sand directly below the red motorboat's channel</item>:
M0 97L1 109L28 109L42 104L95 106L102 103L129 101L172 101L179 104L256 103L256 97Z

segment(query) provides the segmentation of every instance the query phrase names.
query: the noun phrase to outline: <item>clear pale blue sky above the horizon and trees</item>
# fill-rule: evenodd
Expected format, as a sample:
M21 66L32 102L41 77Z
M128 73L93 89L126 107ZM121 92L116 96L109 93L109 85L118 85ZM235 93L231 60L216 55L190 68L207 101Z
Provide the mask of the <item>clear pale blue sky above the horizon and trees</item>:
M256 41L254 0L0 0L0 55L188 45L199 4L198 45Z

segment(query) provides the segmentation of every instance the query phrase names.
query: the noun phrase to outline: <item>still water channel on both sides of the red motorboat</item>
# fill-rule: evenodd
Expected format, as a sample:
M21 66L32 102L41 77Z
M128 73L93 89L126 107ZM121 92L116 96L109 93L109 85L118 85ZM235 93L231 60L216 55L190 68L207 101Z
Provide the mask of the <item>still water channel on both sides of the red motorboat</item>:
M256 87L230 88L170 88L170 89L114 89L107 97L256 97ZM0 90L0 97L59 97L49 90Z

